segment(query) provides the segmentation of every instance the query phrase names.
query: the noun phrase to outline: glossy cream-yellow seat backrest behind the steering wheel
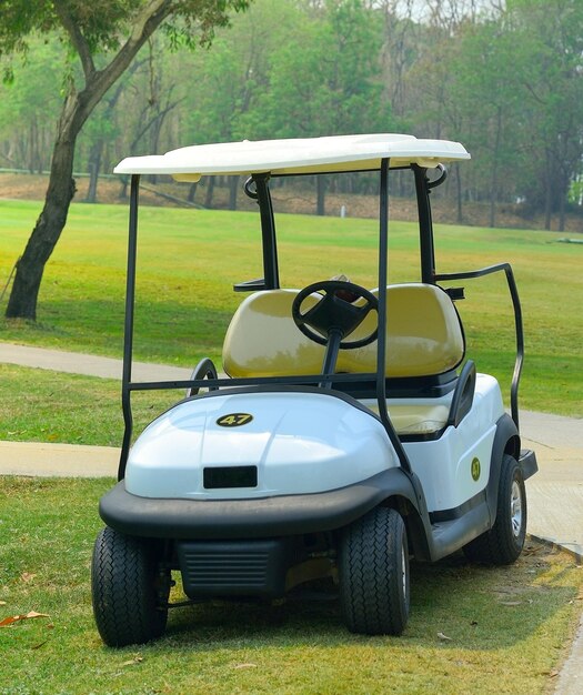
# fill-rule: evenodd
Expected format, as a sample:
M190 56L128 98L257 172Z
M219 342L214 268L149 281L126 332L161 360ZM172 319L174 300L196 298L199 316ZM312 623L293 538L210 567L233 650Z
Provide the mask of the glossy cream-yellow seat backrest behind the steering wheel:
M250 294L231 320L223 345L223 369L233 377L319 374L324 349L295 326L291 306L299 290ZM373 291L378 294L376 291ZM308 298L315 303L319 295ZM386 291L385 374L430 376L455 369L464 355L460 318L450 296L430 284L390 285ZM376 323L371 312L352 339L366 335ZM376 341L341 350L338 372L375 372Z

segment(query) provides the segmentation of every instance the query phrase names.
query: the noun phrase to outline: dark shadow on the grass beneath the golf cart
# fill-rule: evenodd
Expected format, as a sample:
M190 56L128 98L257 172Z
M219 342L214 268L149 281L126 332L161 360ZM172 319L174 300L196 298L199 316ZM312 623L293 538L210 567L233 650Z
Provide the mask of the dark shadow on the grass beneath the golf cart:
M530 545L507 567L471 564L461 553L435 564L412 563L411 617L401 637L348 632L330 582L315 591L299 588L274 605L212 602L172 610L161 645L195 645L202 651L240 648L243 643L248 648L383 642L478 651L510 647L530 637L576 594L576 586L562 585L553 575L553 554Z

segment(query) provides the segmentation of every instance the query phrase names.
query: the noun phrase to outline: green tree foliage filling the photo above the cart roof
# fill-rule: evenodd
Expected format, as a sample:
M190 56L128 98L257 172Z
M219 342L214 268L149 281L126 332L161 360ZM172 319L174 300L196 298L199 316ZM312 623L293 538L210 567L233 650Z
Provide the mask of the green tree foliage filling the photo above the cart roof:
M78 135L77 169L97 172L195 142L399 130L472 152L436 191L460 221L466 201L494 225L521 200L564 223L583 173L580 0L254 0L224 28L247 4L0 0L2 162L54 168Z

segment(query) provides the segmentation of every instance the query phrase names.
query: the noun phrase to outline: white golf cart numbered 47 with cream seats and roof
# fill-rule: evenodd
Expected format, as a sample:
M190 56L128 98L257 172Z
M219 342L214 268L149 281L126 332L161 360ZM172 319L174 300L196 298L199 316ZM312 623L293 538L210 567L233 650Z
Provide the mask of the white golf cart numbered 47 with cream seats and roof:
M131 207L125 433L92 561L105 644L163 633L172 572L190 602L269 601L328 577L350 631L399 635L410 558L460 548L485 563L519 557L524 481L537 466L519 434L523 334L512 269L435 270L430 192L444 163L469 158L456 142L371 134L189 147L117 167L131 174ZM393 170L413 177L420 273L389 285ZM379 180L376 288L344 278L281 288L270 181L340 172ZM132 381L139 187L152 173L244 175L260 212L263 278L234 286L247 295L224 336L222 371L202 359L184 381ZM511 415L496 380L465 359L454 305L461 281L492 273L505 275L514 306ZM132 393L161 389L187 396L130 446Z

